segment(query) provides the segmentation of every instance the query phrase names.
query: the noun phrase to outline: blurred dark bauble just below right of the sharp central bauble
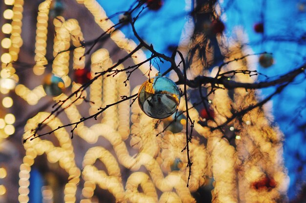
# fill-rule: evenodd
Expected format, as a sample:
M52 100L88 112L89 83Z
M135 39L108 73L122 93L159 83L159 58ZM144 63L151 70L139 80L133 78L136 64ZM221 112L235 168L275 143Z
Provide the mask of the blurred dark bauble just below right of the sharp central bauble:
M177 112L176 115L179 115L180 113L181 112ZM176 116L176 118L175 114L173 114L164 120L164 127L168 126L167 130L170 130L173 133L181 132L184 128L184 125L186 125L186 117L183 114Z

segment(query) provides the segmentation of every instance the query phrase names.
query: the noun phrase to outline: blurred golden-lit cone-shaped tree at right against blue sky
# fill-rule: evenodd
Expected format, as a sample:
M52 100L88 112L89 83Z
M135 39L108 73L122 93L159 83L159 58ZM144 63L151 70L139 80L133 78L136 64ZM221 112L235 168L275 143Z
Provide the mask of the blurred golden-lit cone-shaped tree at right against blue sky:
M231 55L229 60L243 56L241 50L236 48L233 51L236 54ZM251 66L246 60L235 61L229 64L228 70L235 70L237 66L244 67L243 64ZM238 74L235 78L240 82L253 82L253 78L244 74ZM230 117L231 108L243 109L257 102L255 91L239 88L234 90L234 99L235 102L230 100L227 90L216 91L212 103L218 110L215 116L217 122L222 121L224 117ZM277 128L271 127L260 108L246 113L242 122L230 123L232 130L240 130L239 135L235 137L236 149L227 140L222 139L224 135L221 132L216 131L209 136L203 134L208 138L207 148L212 156L212 173L215 180L213 200L238 202L239 198L241 202L276 203L288 186L282 160L282 145L279 144L283 135ZM209 121L209 124L214 125L212 121ZM275 187L266 192L254 189L253 183L264 176L273 179Z

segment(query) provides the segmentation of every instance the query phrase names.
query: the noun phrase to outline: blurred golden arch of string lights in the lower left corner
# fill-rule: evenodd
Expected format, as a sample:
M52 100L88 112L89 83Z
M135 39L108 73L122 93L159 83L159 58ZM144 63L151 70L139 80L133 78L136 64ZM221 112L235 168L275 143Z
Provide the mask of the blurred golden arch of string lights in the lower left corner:
M33 127L33 125L37 125L47 115L48 113L41 112L34 118L30 119L25 127L26 133L24 134L24 137L28 137L31 134L30 129ZM57 118L51 118L48 122L48 126L51 129L56 129L59 125L62 125L62 123ZM64 189L64 200L65 202L75 202L76 189L77 184L80 181L79 177L81 175L81 170L76 166L74 161L73 146L70 136L66 130L58 130L56 133L54 133L54 135L58 139L60 146L54 146L52 142L41 140L39 138L33 140L32 142L24 143L26 152L23 158L23 163L20 165L20 188L28 188L31 166L35 162L35 158L37 156L45 153L47 155L48 162L59 162L59 165L68 173L69 176ZM24 190L19 191L19 202L29 202L28 192L25 192Z

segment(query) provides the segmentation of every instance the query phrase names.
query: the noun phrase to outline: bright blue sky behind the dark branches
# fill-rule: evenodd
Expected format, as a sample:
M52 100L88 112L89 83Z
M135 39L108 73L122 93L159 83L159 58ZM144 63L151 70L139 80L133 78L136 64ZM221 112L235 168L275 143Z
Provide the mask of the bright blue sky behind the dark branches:
M107 1L100 4L108 15L128 10L130 0ZM229 3L228 3L229 2ZM233 29L241 26L248 36L250 46L255 53L263 51L273 53L275 64L269 68L258 67L258 71L268 76L278 76L303 64L306 56L306 41L297 41L306 33L306 12L298 9L302 0L224 0L226 6L225 35L232 36ZM305 1L306 2L306 1ZM146 12L136 23L140 36L152 43L157 51L171 54L168 47L177 45L186 20L185 0L165 0L163 7L154 12ZM118 17L113 19L118 20ZM257 22L264 23L264 34L255 33L253 26ZM122 31L133 39L130 27ZM163 66L161 66L163 68ZM273 98L273 115L276 123L285 135L284 159L290 176L289 198L295 197L296 181L306 180L306 170L298 172L300 166L306 166L305 132L298 131L297 126L306 122L306 80L297 78L293 85ZM259 77L259 80L263 78ZM269 95L274 88L262 90ZM298 114L301 114L298 117ZM296 119L295 119L296 118ZM298 160L300 159L300 160Z

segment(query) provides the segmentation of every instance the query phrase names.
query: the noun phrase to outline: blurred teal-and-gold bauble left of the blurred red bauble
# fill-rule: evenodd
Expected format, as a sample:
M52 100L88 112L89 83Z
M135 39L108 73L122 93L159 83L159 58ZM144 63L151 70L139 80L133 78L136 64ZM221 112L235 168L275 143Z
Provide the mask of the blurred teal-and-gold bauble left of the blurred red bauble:
M61 78L54 76L53 74L48 74L44 78L43 87L45 93L53 97L59 96L65 89L64 81Z

